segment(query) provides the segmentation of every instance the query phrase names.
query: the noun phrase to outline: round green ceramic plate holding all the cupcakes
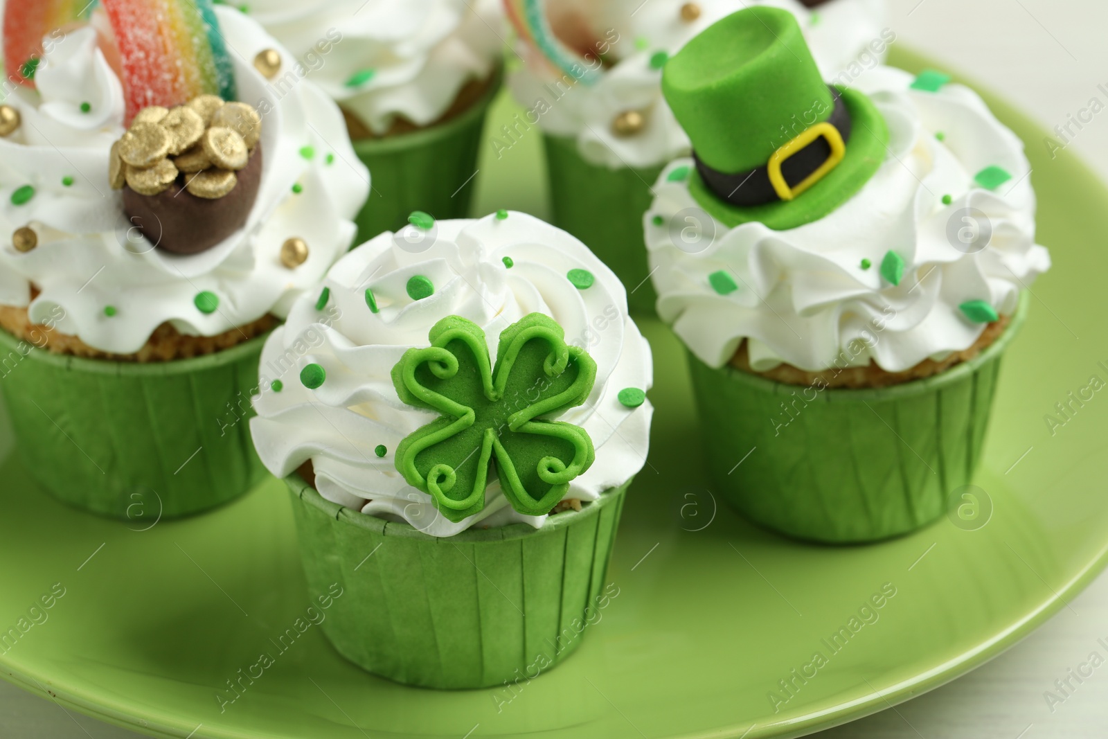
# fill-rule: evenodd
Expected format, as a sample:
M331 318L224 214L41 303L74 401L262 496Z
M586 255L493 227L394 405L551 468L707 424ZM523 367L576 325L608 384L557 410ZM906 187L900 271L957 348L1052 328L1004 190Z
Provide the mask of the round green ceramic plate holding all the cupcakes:
M548 674L511 690L404 688L343 661L315 626L280 651L309 605L280 482L201 517L155 523L136 511L117 523L54 503L11 458L0 469L4 677L157 737L750 739L858 718L997 655L1106 560L1108 391L1090 378L1108 380L1108 324L1094 309L1108 193L991 102L1028 142L1056 265L1002 371L976 511L876 546L825 548L717 509L683 352L648 322L657 415L609 573L619 594ZM511 114L502 102L491 131ZM479 207L542 213L540 145L524 132L483 163ZM58 463L79 453L59 449ZM51 588L64 595L31 612ZM21 618L27 633L10 636ZM264 651L278 656L252 682L243 675ZM220 710L217 694L235 696L228 680L239 696Z

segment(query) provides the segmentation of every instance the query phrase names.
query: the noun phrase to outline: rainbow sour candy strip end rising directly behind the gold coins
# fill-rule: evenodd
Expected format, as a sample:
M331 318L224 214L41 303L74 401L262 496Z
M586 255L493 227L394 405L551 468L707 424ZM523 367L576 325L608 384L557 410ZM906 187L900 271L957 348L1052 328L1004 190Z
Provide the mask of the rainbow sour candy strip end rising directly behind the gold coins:
M126 122L150 105L202 94L235 99L235 78L211 0L102 0L123 60Z

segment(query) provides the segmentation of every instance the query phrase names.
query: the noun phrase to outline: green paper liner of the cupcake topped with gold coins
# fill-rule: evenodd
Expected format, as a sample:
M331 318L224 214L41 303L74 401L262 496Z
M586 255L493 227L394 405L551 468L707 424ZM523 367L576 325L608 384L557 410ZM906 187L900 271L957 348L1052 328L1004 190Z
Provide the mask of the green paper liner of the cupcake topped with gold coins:
M266 474L250 441L265 337L132 363L37 349L0 331L0 389L31 475L70 505L136 523L197 513Z

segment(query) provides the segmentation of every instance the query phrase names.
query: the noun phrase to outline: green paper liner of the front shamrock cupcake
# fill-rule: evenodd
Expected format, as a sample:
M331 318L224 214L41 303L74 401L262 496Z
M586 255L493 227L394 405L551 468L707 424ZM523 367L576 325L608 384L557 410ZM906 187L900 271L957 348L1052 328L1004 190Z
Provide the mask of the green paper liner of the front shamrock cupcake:
M339 654L406 685L500 686L572 653L602 592L630 481L579 512L439 538L324 500L297 475L300 555Z

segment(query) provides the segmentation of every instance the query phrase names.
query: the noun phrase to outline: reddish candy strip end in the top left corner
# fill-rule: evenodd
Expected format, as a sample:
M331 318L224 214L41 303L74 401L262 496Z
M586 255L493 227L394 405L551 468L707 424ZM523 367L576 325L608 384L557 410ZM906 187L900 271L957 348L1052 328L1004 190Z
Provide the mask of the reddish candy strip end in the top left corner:
M8 0L3 9L3 64L8 79L34 86L42 40L89 20L96 0Z

